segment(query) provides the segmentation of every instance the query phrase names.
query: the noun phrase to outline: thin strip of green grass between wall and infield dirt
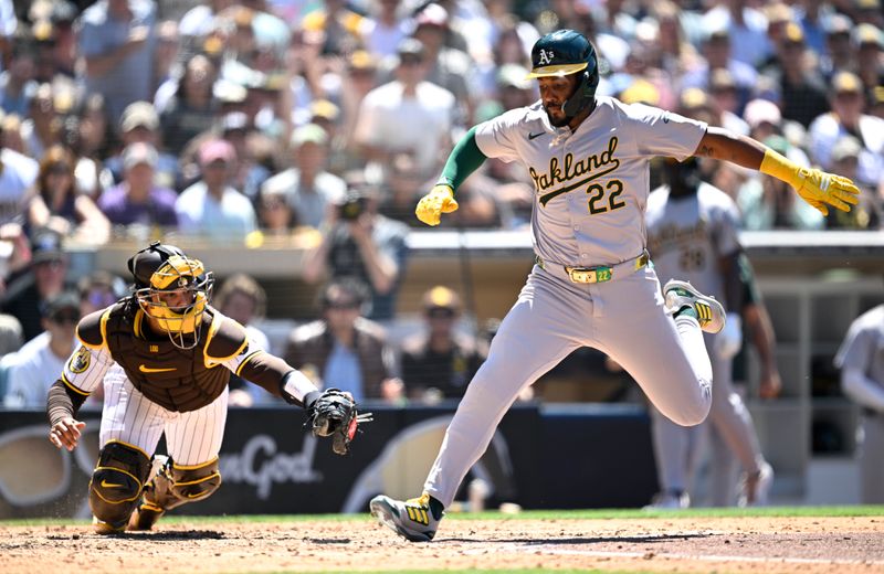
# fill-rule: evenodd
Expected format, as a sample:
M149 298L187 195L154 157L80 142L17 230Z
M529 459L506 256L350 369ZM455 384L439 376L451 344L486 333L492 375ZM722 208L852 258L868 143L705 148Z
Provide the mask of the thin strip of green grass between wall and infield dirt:
M526 510L517 514L488 511L449 513L451 520L610 520L653 518L736 518L736 517L884 517L884 506L851 507L761 507L761 508L696 508L685 510L593 509L593 510ZM201 523L285 523L285 522L365 522L368 514L234 514L218 517L162 518L164 524ZM87 520L33 518L2 520L0 527L84 525ZM415 571L417 572L417 571ZM501 572L501 571L494 571ZM518 571L529 572L529 571Z

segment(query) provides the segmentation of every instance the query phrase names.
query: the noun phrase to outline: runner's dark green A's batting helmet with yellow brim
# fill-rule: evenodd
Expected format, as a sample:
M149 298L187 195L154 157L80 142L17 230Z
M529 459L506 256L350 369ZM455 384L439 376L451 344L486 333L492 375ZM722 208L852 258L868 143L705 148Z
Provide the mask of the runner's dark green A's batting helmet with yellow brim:
M532 71L527 77L550 77L580 74L573 93L562 105L570 121L594 104L599 86L599 59L587 38L573 30L557 30L532 49Z

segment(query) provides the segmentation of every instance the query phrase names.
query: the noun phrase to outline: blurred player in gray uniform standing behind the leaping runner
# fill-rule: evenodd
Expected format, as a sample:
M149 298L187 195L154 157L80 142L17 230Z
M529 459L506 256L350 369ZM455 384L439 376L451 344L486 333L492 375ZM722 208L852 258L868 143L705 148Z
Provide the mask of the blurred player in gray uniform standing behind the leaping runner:
M774 474L758 446L751 415L734 390L730 373L733 357L743 343L737 205L726 193L701 181L695 158L682 163L666 158L661 169L667 185L654 190L648 199L648 247L661 279L687 279L703 293L724 301L728 311L722 332L705 336L714 382L708 418L743 467L741 501L761 504L767 500ZM651 411L661 487L652 508L685 508L690 506L688 488L706 425L680 426L659 410ZM729 486L726 474L713 476ZM713 490L722 489L714 486ZM714 502L726 504L727 499Z

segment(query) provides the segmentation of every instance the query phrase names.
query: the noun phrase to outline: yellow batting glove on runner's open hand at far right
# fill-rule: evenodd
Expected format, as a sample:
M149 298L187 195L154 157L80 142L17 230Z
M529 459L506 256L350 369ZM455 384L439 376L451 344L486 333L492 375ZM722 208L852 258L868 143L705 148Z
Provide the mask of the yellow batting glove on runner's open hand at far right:
M850 179L818 169L801 168L772 149L765 152L760 170L793 187L801 199L823 215L829 215L829 205L850 211L851 205L860 202L860 190Z

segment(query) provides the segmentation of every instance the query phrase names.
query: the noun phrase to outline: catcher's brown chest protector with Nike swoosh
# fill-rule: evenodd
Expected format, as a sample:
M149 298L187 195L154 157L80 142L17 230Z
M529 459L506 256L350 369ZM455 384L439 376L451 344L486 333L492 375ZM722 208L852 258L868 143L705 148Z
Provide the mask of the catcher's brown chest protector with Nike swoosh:
M133 312L126 306L127 301L122 301L110 308L104 334L110 355L133 385L164 408L180 413L196 411L218 398L230 381L230 371L222 365L207 368L207 348L212 348L212 357L235 355L245 342L242 329L224 328L223 323L239 326L207 307L202 340L185 350L165 334L151 334L144 312ZM213 321L220 322L221 328L213 328L219 327L212 326Z

